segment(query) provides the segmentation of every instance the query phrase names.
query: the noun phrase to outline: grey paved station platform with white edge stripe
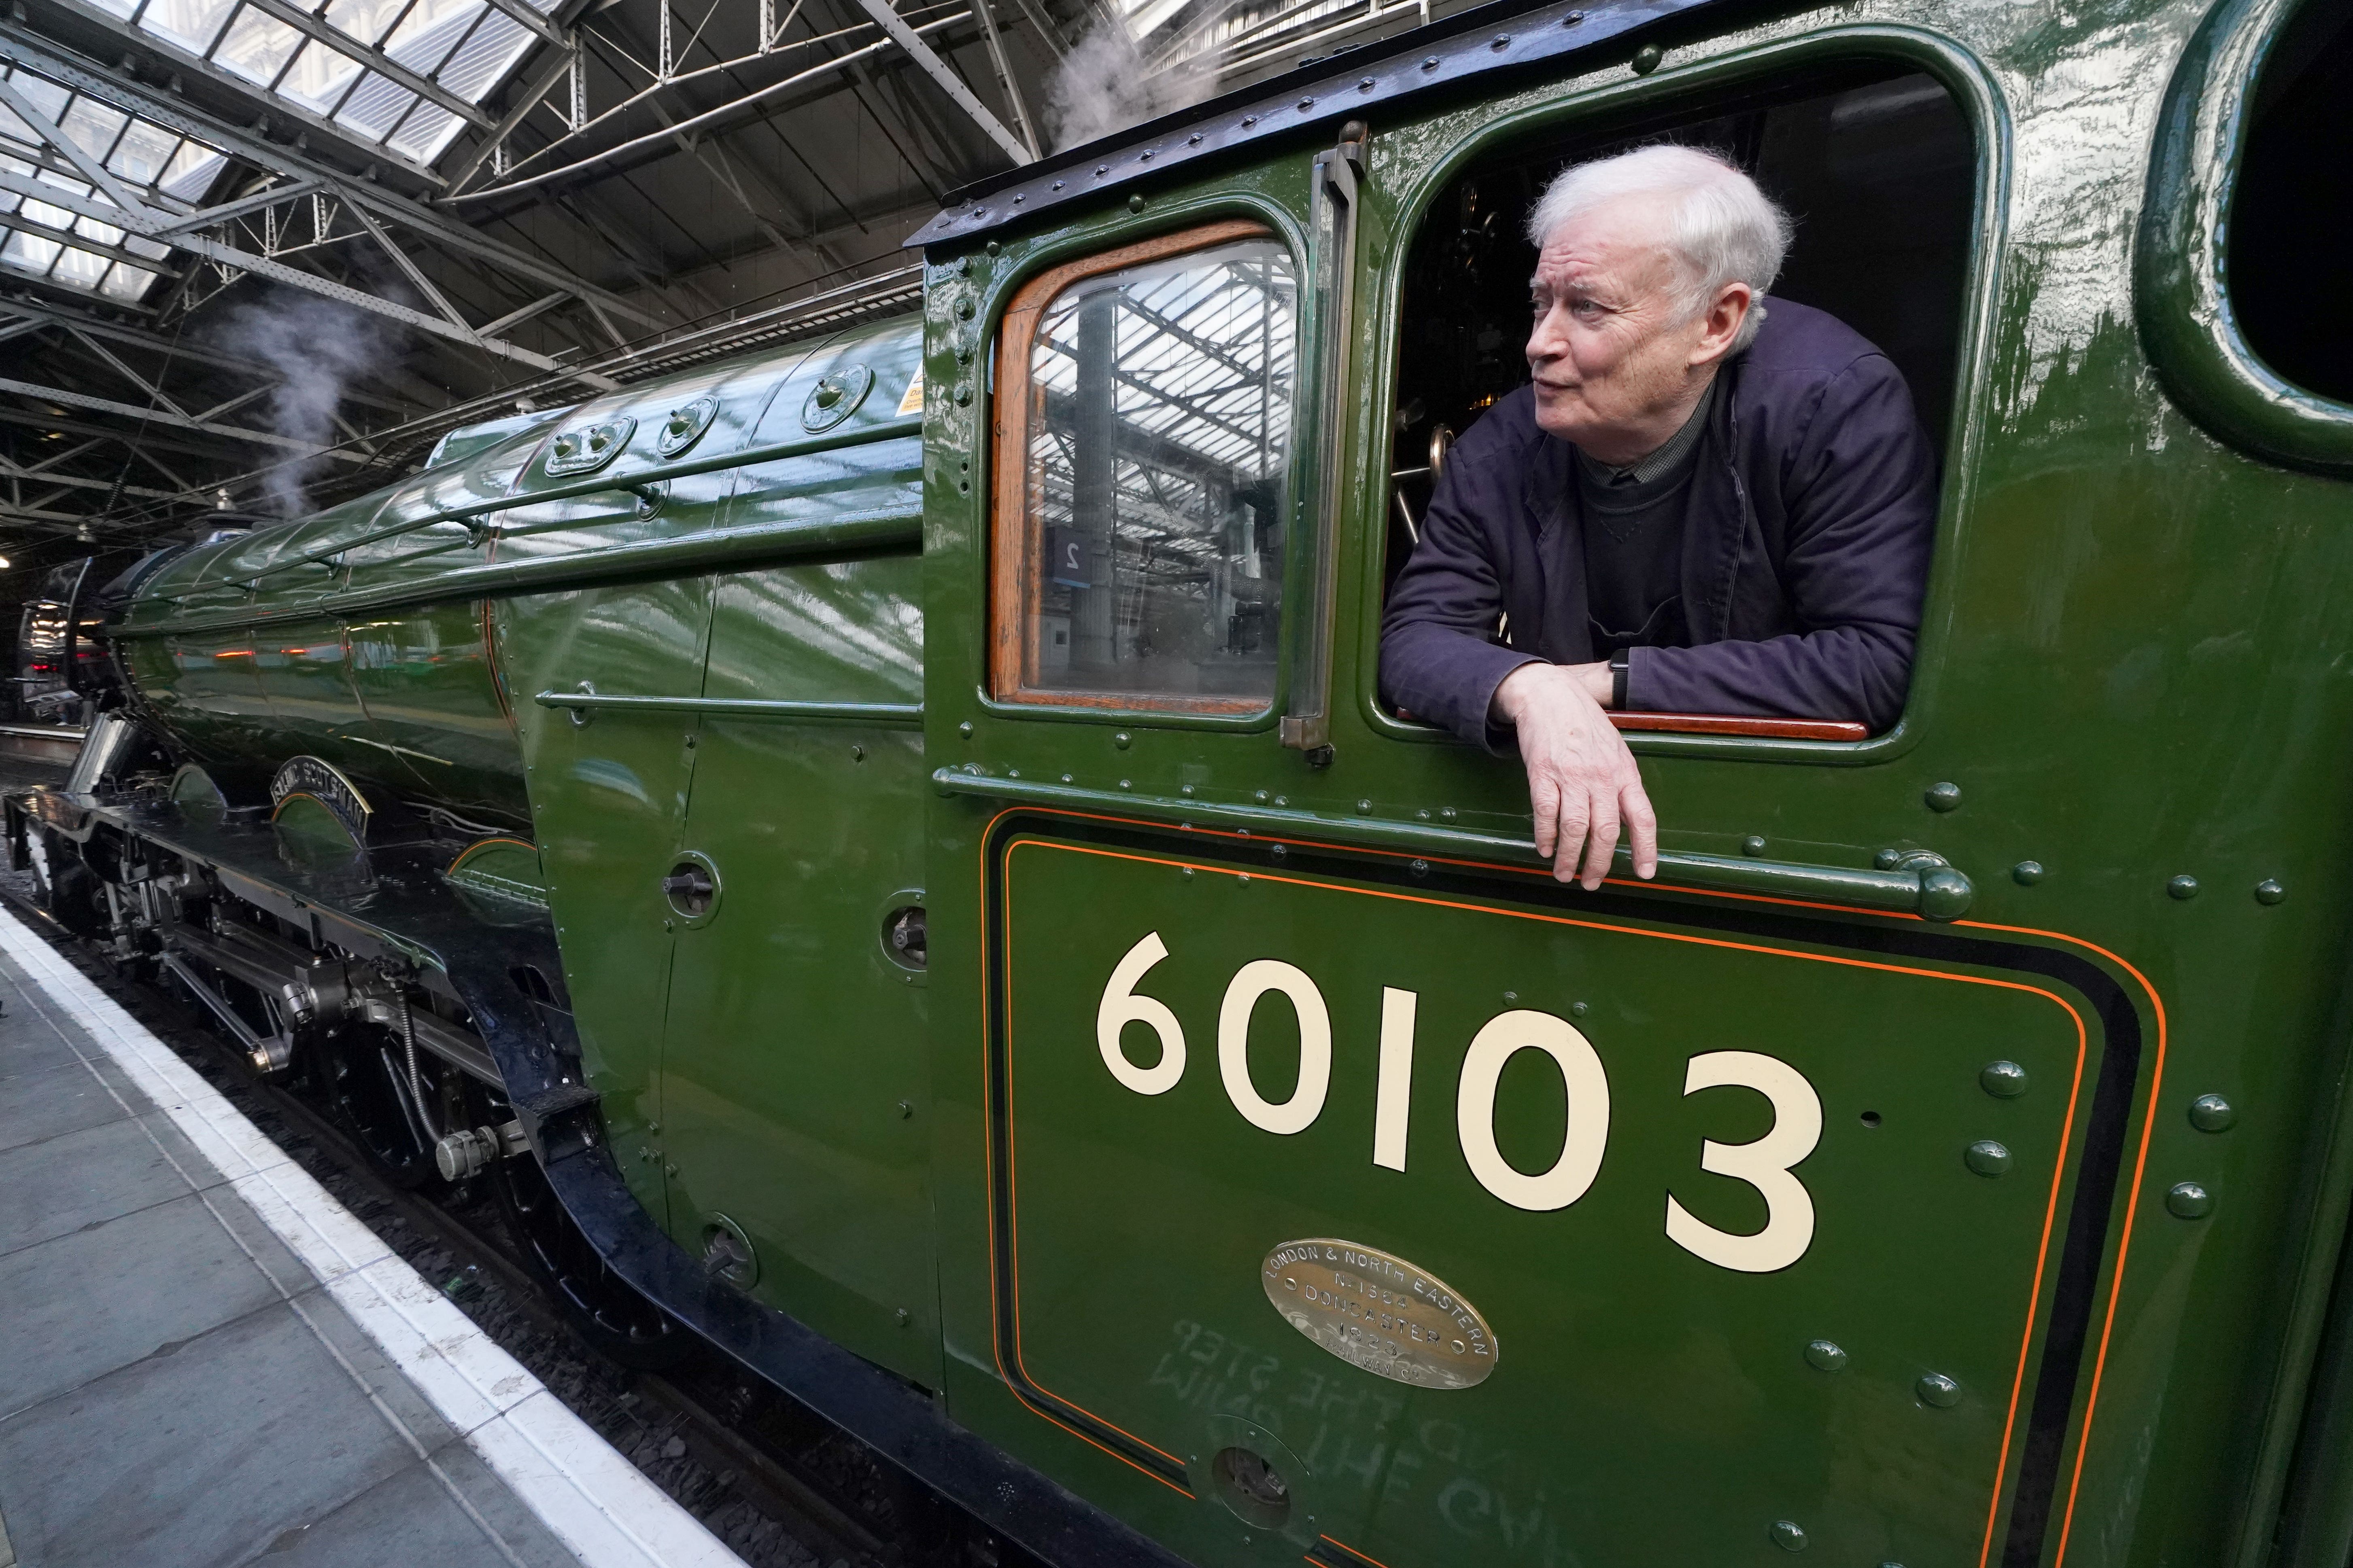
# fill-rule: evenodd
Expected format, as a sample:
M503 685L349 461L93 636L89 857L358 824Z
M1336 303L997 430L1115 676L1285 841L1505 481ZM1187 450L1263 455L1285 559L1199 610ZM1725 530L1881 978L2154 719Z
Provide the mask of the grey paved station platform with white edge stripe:
M0 912L0 1568L739 1568Z

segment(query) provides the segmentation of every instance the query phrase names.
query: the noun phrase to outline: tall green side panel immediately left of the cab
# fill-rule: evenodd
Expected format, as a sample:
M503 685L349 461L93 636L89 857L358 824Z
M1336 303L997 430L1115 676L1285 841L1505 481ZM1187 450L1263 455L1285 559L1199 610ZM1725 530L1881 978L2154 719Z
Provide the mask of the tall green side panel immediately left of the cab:
M918 583L911 555L722 578L704 696L913 703ZM685 846L720 898L678 936L661 1103L680 1244L725 1215L758 1298L936 1387L925 976L885 929L922 903L925 778L901 726L699 719Z

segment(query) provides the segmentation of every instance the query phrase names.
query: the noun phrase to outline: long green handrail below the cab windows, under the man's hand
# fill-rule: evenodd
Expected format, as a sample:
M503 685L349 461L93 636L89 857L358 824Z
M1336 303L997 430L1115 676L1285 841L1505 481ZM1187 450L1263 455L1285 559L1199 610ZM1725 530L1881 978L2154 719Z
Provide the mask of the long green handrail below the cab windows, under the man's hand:
M939 769L932 773L932 783L941 795L972 795L1040 806L1078 806L1082 811L1118 816L1144 813L1153 818L1174 818L1179 827L1247 827L1252 832L1329 839L1360 844L1365 849L1386 849L1393 853L1541 865L1537 846L1529 839L1468 832L1464 827L1395 823L1365 816L1329 816L1322 811L1301 811L1297 806L1228 806L1200 799L1172 799L1167 795L1087 790L1080 785L1038 783L1031 778L1005 778L965 769ZM1633 853L1624 846L1617 851L1614 875L1633 875ZM1769 898L1809 898L1842 903L1859 910L1894 910L1899 914L1918 914L1922 919L1939 922L1967 914L1969 900L1977 896L1967 875L1944 865L1934 856L1920 856L1913 865L1861 870L1845 865L1807 865L1798 860L1661 851L1659 882L1664 886L1680 884L1729 893L1762 893Z

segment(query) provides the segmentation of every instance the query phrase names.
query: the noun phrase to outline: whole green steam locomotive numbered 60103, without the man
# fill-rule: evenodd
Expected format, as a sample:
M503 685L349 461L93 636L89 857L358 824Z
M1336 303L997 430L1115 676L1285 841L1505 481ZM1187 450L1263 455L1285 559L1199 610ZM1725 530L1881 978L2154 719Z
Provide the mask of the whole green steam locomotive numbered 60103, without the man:
M1047 1561L2344 1568L2348 87L2322 0L1308 61L965 193L920 315L141 562L12 846ZM1944 501L1901 722L1628 715L1584 893L1374 649L1520 214L1661 136Z

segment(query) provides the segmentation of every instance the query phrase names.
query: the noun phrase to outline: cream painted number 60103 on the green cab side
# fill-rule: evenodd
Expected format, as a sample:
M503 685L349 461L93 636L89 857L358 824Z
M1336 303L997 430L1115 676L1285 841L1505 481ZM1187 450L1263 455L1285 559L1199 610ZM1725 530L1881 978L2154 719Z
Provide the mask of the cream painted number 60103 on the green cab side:
M1111 971L1094 1009L1094 1044L1111 1077L1139 1095L1162 1095L1184 1079L1184 1025L1169 1004L1136 992L1144 976L1169 954L1151 931ZM1249 1018L1268 992L1282 992L1299 1016L1299 1084L1282 1103L1266 1100L1249 1081ZM1381 987L1381 1053L1374 1081L1372 1164L1405 1168L1409 1091L1414 1077L1414 1013L1419 994ZM1160 1039L1160 1058L1139 1067L1120 1046L1127 1025L1144 1025ZM1504 1063L1520 1051L1541 1051L1560 1067L1567 1086L1567 1126L1560 1159L1529 1175L1504 1159L1494 1143L1494 1091ZM1217 1070L1233 1110L1252 1126L1292 1135L1322 1114L1332 1088L1332 1013L1315 980L1294 964L1254 959L1235 971L1217 1009ZM1682 1093L1704 1088L1753 1088L1772 1103L1774 1121L1755 1143L1701 1140L1699 1168L1748 1182L1765 1197L1765 1229L1737 1234L1694 1218L1668 1194L1666 1237L1725 1269L1769 1274L1805 1258L1814 1241L1814 1199L1793 1166L1821 1143L1821 1095L1788 1063L1758 1051L1706 1051L1685 1067ZM1478 1182L1513 1208L1537 1213L1567 1208L1586 1194L1609 1145L1609 1074L1593 1041L1565 1018L1513 1009L1489 1018L1464 1053L1454 1091L1454 1133L1464 1164Z

